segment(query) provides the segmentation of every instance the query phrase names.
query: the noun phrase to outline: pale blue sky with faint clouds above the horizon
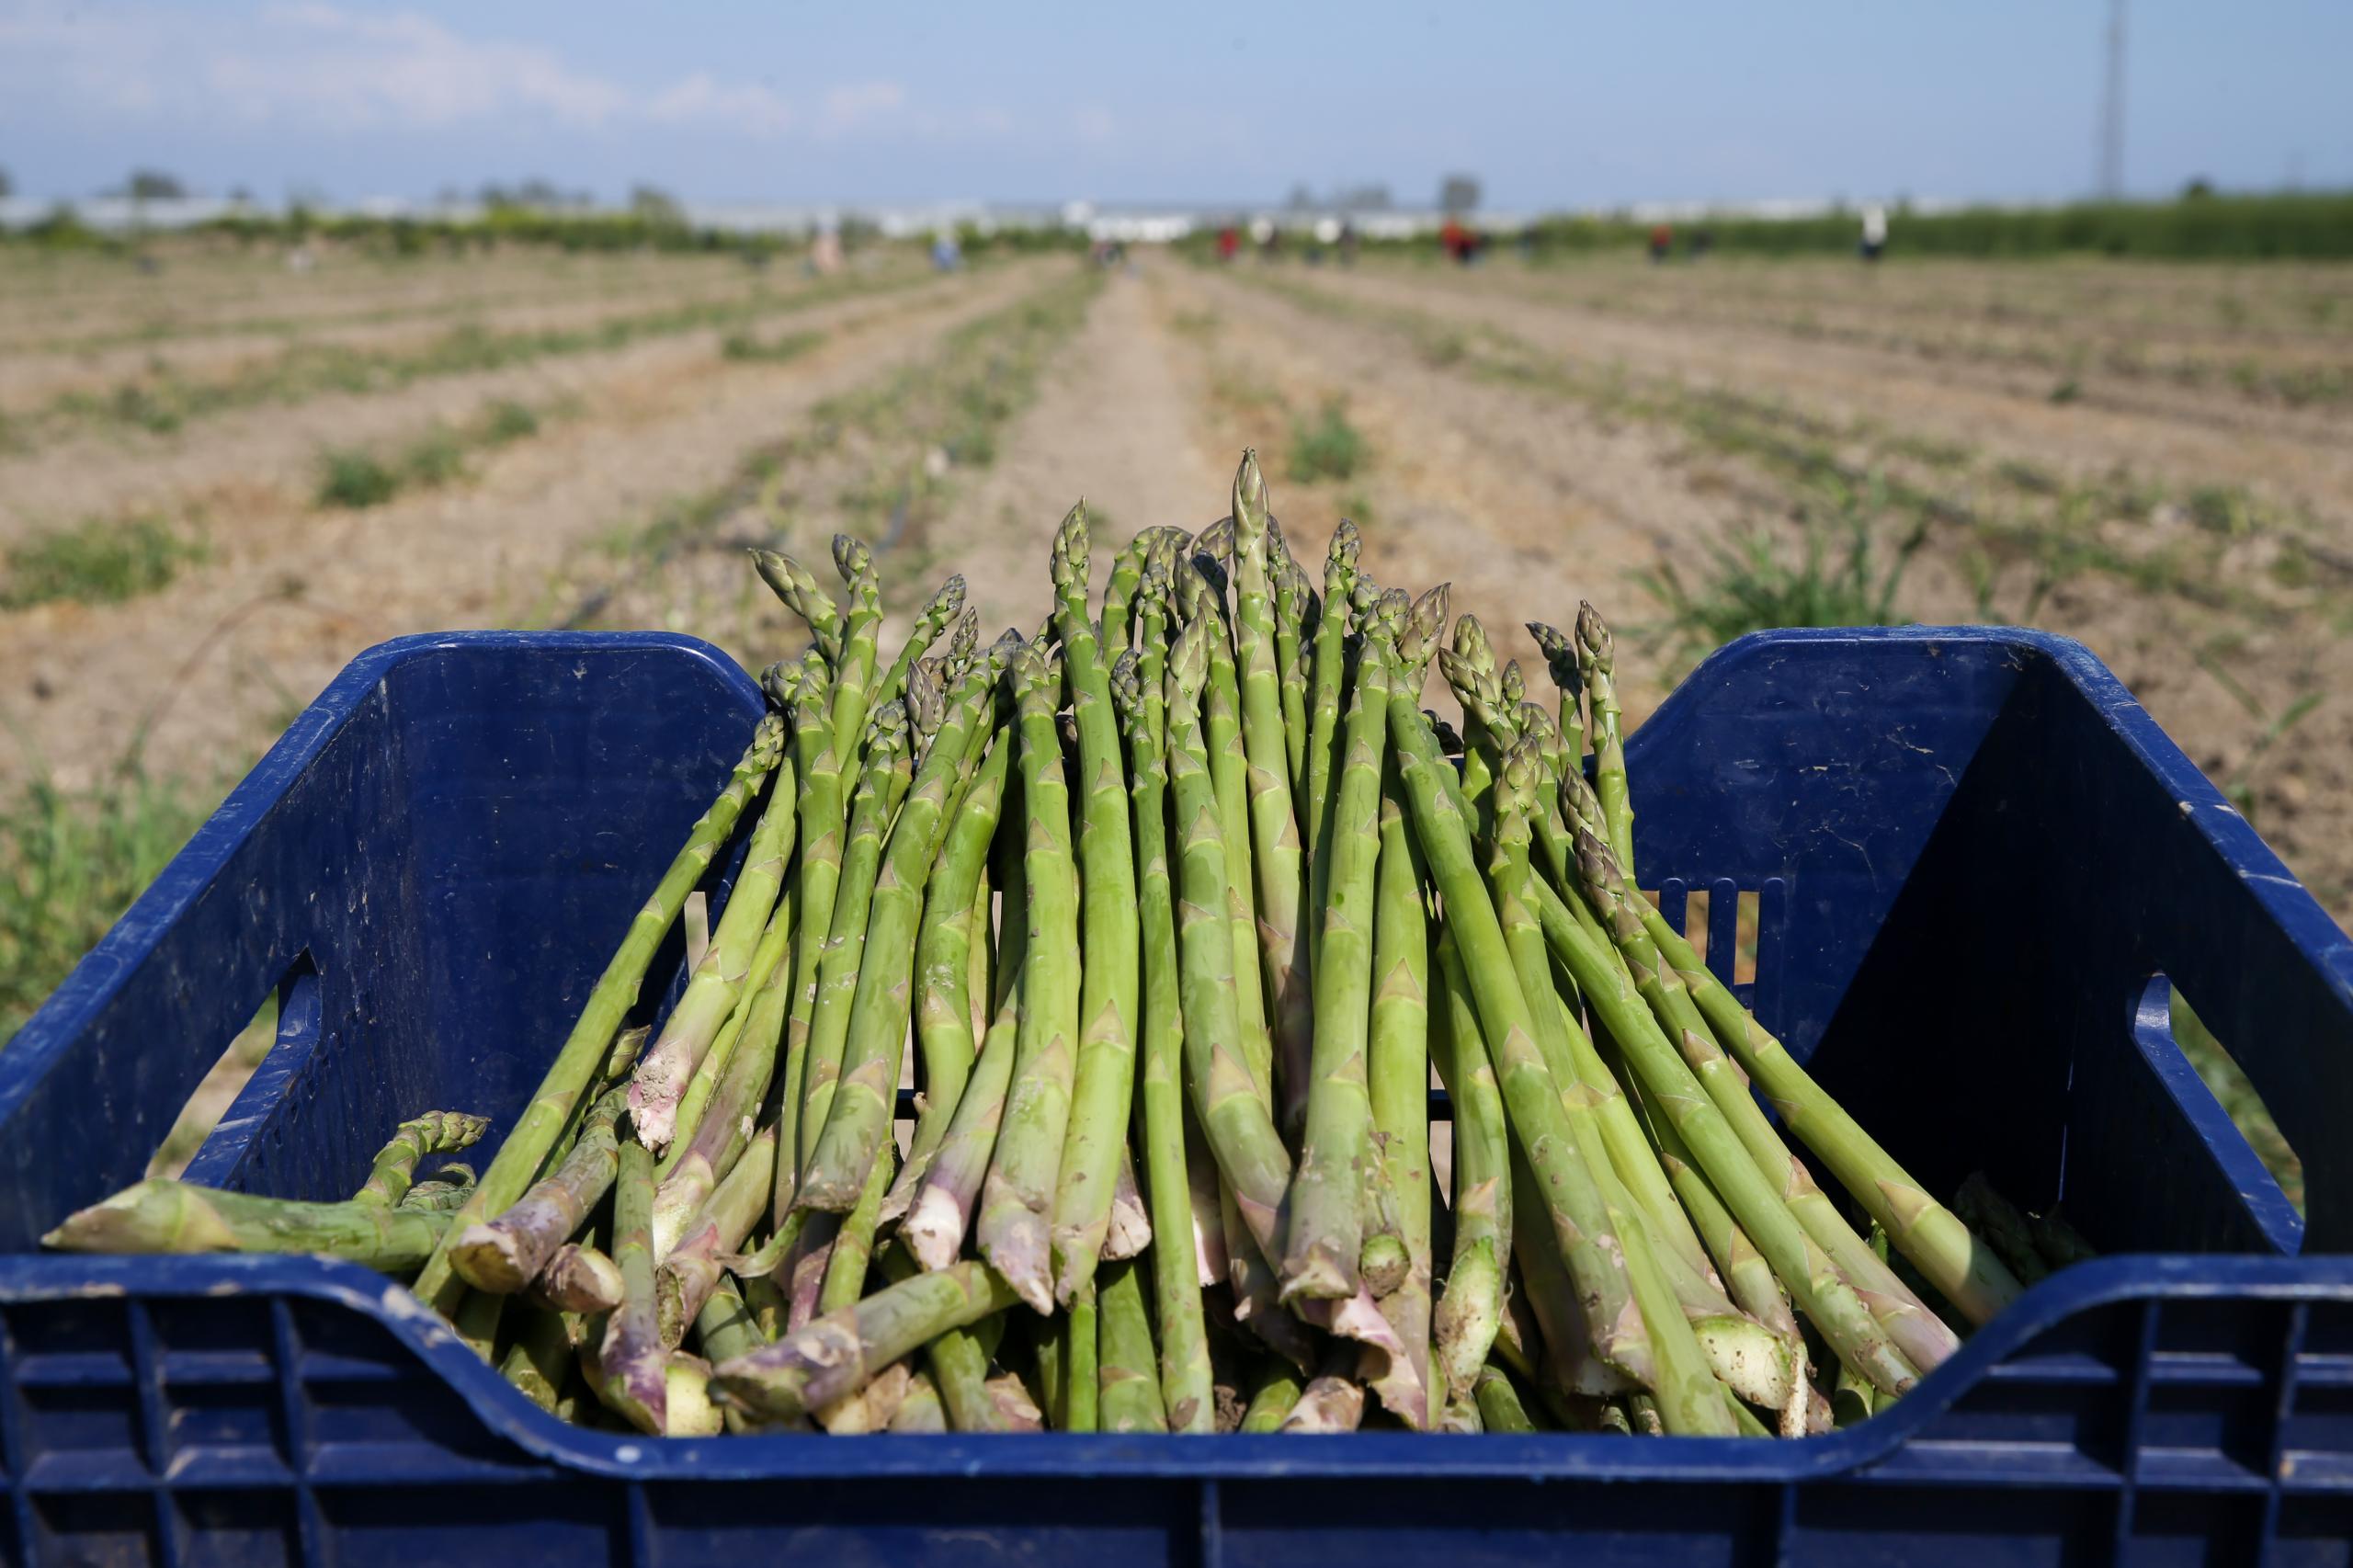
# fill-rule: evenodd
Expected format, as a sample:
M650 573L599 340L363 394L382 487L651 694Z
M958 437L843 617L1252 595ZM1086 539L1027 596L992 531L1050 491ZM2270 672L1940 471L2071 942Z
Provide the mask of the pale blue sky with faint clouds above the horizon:
M504 5L0 0L0 167L336 200L2059 198L2104 0ZM2353 186L2346 0L2134 0L2127 184Z

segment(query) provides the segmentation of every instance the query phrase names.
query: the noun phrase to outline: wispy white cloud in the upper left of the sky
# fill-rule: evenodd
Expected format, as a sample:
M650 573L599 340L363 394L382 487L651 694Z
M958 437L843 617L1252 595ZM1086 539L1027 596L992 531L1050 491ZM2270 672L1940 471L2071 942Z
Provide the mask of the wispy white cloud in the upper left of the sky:
M0 101L61 115L280 129L452 129L551 125L701 127L779 139L842 137L906 106L899 82L845 82L809 115L760 82L708 71L626 85L558 52L456 33L416 12L360 12L322 0L245 16L174 9L0 9Z

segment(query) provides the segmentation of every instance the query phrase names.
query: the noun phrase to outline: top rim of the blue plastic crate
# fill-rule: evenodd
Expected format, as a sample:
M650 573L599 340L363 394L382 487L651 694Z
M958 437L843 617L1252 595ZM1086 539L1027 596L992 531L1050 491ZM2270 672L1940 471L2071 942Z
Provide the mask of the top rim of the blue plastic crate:
M2160 777L2184 817L2249 883L2259 906L2285 928L2299 949L2325 965L2339 998L2353 1008L2353 939L2297 883L2252 824L2165 735L2106 664L2075 638L2017 626L1852 626L1758 631L1715 650L1661 702L1657 716L1628 737L1666 739L1682 713L1685 687L1704 673L1767 659L1779 647L1835 643L1995 643L2012 650L2024 673L2035 662L2089 699L2101 718ZM68 979L35 1010L14 1043L0 1052L0 1116L12 1114L40 1078L49 1057L71 1043L61 1026L99 1005L136 970L153 935L167 928L219 871L219 864L259 824L266 805L320 756L336 727L400 664L454 647L536 647L581 652L675 650L711 664L722 683L758 704L751 676L708 640L661 631L449 631L379 643L358 655L304 709L224 805L195 831L162 876L132 904ZM1657 718L1654 716L1654 718ZM558 1422L506 1384L487 1363L431 1314L405 1285L369 1269L318 1257L92 1257L0 1255L0 1300L144 1300L144 1297L287 1295L334 1302L381 1323L405 1349L442 1377L482 1427L532 1457L614 1479L821 1479L892 1474L965 1476L1198 1476L1257 1479L1271 1474L1379 1476L1447 1474L1546 1479L1744 1479L1760 1483L1807 1481L1852 1471L1904 1448L1958 1394L1979 1382L2002 1356L2035 1333L2089 1307L2132 1297L2268 1297L2348 1300L2353 1257L2254 1257L2254 1255L2111 1255L2057 1274L1981 1328L1962 1349L1885 1415L1859 1427L1774 1443L1718 1439L1659 1439L1635 1448L1593 1434L1485 1436L1480 1443L1442 1443L1419 1434L1358 1434L1348 1443L1301 1450L1285 1439L1228 1434L1219 1443L1181 1436L1096 1434L1071 1443L1064 1434L1040 1436L936 1436L920 1443L809 1443L795 1439L645 1439L600 1434ZM285 1368L282 1375L294 1375ZM2132 1373L2120 1373L2129 1377ZM1268 1446L1273 1443L1273 1446Z

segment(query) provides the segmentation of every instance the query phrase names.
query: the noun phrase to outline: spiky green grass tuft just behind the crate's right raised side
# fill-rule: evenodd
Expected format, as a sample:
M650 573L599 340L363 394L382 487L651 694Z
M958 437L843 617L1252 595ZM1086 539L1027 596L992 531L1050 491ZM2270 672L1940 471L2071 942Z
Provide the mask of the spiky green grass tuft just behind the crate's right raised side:
M1708 544L1699 570L1673 558L1635 574L1661 619L1635 633L1682 664L1732 638L1774 626L1901 626L1897 589L1927 539L1913 527L1882 565L1871 518L1878 509L1831 494L1831 513L1809 513L1795 558L1765 530Z

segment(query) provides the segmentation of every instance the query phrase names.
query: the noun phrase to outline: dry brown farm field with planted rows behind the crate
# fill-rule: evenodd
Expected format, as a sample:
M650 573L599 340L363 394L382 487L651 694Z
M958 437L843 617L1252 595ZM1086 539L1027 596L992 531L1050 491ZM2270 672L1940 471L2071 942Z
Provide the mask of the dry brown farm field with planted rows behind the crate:
M506 348L433 358L454 325ZM261 381L327 346L393 370ZM162 374L242 391L45 412ZM882 553L885 638L951 570L1026 631L1075 499L1101 577L1257 445L1311 570L1355 518L1372 577L1449 579L1537 687L1522 622L1602 605L1633 716L1824 577L2085 638L2353 911L2353 268L0 257L0 796L129 758L200 808L407 631L666 626L758 669L802 629L744 549L824 574L835 530ZM332 504L325 454L419 440L459 457ZM134 523L179 553L129 589L24 586Z

